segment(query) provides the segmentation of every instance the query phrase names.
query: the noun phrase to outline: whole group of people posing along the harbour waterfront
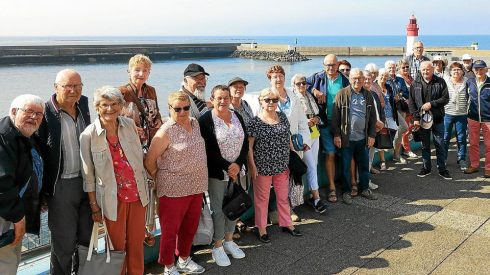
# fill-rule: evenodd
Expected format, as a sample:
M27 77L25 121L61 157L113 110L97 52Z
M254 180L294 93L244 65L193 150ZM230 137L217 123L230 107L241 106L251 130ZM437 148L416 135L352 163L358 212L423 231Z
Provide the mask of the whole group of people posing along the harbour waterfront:
M381 132L391 136L398 162L405 162L402 156L417 157L409 137L419 137L419 177L431 173L432 135L439 175L451 179L446 161L452 128L458 163L467 174L479 171L482 130L484 176L490 177L490 79L485 62L467 62L471 57L465 55L463 64L454 62L446 70L441 60L423 56L422 42L413 48L413 55L387 61L384 69L375 64L351 68L348 61L329 54L322 71L294 75L291 88L286 87L284 68L274 65L266 72L270 86L259 92L258 109L244 100L248 82L240 77L213 87L205 99L209 73L192 63L180 90L168 96L165 119L155 88L146 83L152 66L147 56L130 59L126 85L95 91L93 121L80 74L60 71L47 102L20 95L9 116L0 120L0 273L16 273L22 238L25 232L39 234L40 211L46 208L51 274L77 272L77 247L88 246L93 224L103 221L114 249L126 251L121 274L142 274L143 243L153 244L155 212L161 228L158 262L165 266L164 274L202 273L204 268L190 255L206 192L214 226L211 255L217 265L228 266L228 255L245 257L234 242L237 221L222 210L229 182L251 186L259 241L271 242L271 190L282 231L301 237L291 218L292 151L307 166L307 203L325 213L318 158L325 157L328 202L337 202L338 194L346 204L356 196L376 200L373 190L378 186L369 174L386 169L385 150L377 149ZM438 67L443 67L442 77ZM372 165L376 151L379 167ZM10 242L4 244L8 237Z

